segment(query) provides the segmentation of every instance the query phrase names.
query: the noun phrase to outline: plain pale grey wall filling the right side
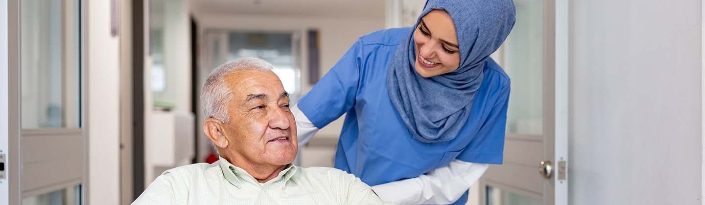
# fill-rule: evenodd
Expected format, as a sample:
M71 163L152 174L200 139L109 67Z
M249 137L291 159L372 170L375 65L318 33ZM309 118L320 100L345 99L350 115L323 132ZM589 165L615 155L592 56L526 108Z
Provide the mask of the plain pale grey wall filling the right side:
M570 204L701 204L701 1L570 1Z

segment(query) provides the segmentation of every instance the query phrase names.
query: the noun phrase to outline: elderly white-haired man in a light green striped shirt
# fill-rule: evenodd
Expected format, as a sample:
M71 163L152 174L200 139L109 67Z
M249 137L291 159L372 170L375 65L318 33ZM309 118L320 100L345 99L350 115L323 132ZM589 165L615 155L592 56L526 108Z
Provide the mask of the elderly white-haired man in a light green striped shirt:
M165 171L133 204L384 204L349 173L291 164L296 124L271 69L259 58L216 68L201 100L220 160Z

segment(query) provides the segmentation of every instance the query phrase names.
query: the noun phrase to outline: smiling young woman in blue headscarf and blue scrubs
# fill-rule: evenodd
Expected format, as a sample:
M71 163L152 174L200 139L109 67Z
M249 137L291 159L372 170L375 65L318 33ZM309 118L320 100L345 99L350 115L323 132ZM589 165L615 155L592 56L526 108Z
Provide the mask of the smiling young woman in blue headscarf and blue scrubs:
M510 80L489 55L514 22L511 0L429 0L360 37L293 109L300 143L347 113L336 168L396 204L465 204L502 163Z

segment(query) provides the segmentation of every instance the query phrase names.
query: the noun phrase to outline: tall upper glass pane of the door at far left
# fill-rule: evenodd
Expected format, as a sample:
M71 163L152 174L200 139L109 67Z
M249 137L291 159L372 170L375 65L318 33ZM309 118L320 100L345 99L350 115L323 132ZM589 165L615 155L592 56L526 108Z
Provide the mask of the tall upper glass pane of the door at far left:
M22 128L78 128L78 1L20 2Z

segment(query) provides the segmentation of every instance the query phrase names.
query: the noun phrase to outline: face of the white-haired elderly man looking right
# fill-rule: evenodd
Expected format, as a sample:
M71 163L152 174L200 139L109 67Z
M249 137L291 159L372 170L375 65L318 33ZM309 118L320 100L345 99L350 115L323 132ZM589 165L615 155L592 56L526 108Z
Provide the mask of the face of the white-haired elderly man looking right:
M296 157L296 123L289 97L274 72L245 70L228 74L232 91L230 121L223 124L228 156L249 164L281 166ZM222 152L222 151L221 151Z

